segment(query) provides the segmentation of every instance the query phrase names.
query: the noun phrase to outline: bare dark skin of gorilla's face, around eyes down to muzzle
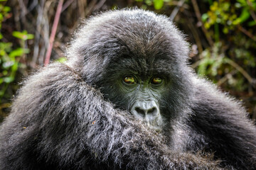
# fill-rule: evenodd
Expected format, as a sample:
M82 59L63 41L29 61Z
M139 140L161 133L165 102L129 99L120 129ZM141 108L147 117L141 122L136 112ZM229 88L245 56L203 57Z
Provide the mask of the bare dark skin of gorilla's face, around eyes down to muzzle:
M161 131L162 118L159 109L159 94L164 90L164 78L155 75L142 80L136 75L127 75L122 79L124 93L133 96L129 111L149 128ZM131 98L132 101L132 98Z

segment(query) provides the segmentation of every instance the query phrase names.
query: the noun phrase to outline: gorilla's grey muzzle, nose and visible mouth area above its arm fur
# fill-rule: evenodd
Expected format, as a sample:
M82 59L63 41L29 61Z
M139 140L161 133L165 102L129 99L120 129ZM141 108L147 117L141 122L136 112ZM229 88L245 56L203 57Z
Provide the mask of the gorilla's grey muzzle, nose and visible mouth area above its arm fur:
M156 131L161 131L162 119L159 106L156 101L135 101L131 108L131 113L139 120Z

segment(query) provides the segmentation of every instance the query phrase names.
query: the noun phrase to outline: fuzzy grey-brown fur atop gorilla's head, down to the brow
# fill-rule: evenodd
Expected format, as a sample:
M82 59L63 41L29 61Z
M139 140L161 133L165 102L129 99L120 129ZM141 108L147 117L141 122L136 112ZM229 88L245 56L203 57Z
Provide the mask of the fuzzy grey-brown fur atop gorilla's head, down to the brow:
M112 68L110 62L124 58L132 58L136 62L130 66L144 73L154 69L176 75L187 72L187 67L176 67L187 63L188 45L183 35L166 16L140 9L92 16L75 33L67 51L70 64L82 67L83 76L95 81L105 68Z

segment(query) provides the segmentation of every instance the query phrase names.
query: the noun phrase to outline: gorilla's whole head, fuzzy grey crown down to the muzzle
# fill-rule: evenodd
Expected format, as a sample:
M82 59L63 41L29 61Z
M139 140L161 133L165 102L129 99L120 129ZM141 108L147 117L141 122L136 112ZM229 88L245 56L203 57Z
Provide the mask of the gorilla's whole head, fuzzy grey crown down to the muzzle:
M193 92L187 88L188 45L168 18L142 10L111 11L86 23L68 56L83 64L88 83L157 131L183 114Z

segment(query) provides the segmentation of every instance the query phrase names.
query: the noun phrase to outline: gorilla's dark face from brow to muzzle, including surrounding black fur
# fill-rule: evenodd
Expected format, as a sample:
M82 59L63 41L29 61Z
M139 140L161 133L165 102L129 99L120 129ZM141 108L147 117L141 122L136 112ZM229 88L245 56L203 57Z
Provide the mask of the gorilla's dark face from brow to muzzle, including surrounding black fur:
M120 64L122 62L123 64ZM119 60L117 65L124 65L124 69L117 69L114 75L109 75L108 86L102 86L102 93L117 107L126 109L149 128L160 131L164 125L163 112L161 111L161 98L168 89L168 75L161 74L157 67L139 68L134 60ZM156 60L157 62L157 60ZM152 64L153 65L153 64ZM138 67L136 69L136 66ZM112 78L113 77L113 78ZM110 90L111 89L111 90Z

